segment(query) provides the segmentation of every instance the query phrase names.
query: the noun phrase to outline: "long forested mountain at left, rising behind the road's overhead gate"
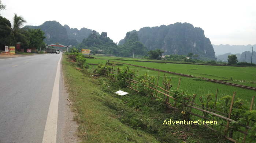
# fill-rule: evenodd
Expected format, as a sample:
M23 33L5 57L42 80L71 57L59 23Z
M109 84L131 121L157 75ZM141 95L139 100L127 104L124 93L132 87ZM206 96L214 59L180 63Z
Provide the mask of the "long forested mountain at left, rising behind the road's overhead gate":
M45 43L60 43L64 45L77 45L91 33L91 29L70 28L68 25L62 26L57 21L45 21L39 26L25 26L24 28L41 29L45 33Z

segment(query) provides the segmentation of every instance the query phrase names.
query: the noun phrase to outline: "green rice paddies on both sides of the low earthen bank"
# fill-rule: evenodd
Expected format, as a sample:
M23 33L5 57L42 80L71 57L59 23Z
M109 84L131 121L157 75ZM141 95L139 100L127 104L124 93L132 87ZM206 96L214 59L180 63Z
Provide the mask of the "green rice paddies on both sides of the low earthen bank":
M117 57L112 57L117 58ZM126 58L125 58L126 59ZM98 64L103 63L105 64L107 60L104 59L86 59L87 63L93 63L93 64ZM119 60L115 60L115 61L119 61ZM111 63L115 63L110 61ZM124 63L126 63L126 61L122 61ZM158 69L163 69L163 70L167 70L167 71L173 71L173 72L180 72L183 74L193 74L195 76L197 75L201 75L201 76L206 76L206 78L218 78L218 79L222 79L223 76L228 75L227 80L229 80L228 82L234 82L234 83L238 83L238 84L244 84L246 86L255 86L255 83L253 83L253 81L255 81L255 79L250 79L250 76L255 75L254 74L254 68L250 68L250 67L223 67L223 66L208 66L208 65L187 65L187 64L164 64L164 63L147 63L147 62L136 62L136 61L127 61L130 64L137 64L137 65L142 65L142 66L146 66L146 67L151 67L151 68L158 68ZM95 68L95 65L91 65ZM128 65L118 65L118 66L114 66L115 68L126 68ZM196 67L195 67L196 66ZM149 69L145 69L145 68L140 68L140 67L134 67L134 66L130 66L131 70L135 70L135 72L137 73L138 71L138 75L144 75L147 73L147 75L151 75L151 76L158 76L158 71L154 71L154 70L149 70ZM189 70L189 69L193 69L193 70ZM197 72L193 72L193 71L197 71ZM217 72L218 71L218 72ZM204 72L206 72L207 74L203 74ZM246 73L248 75L245 74L241 74L241 73ZM217 74L217 75L214 75ZM183 76L178 76L178 75L173 75L173 74L168 74L168 73L163 73L160 72L159 75L159 85L162 87L162 81L163 81L163 77L167 76L167 79L170 79L171 77L171 84L173 87L178 87L178 82L179 82L179 78L181 78L181 85L180 85L180 89L181 90L186 90L188 93L190 94L197 94L197 96L205 96L207 94L215 94L216 93L216 89L219 89L218 92L218 99L222 98L225 95L232 95L233 92L235 91L237 94L235 96L235 98L241 98L246 100L247 102L251 102L252 96L255 95L255 91L253 90L246 90L244 88L239 88L239 87L233 87L233 86L228 86L225 84L217 84L217 83L212 83L212 82L207 82L201 78L186 78ZM223 75L223 76L222 76ZM237 76L240 75L240 76ZM233 77L233 81L230 81L230 77ZM242 79L243 82L241 82L241 79L238 80L237 78L245 78ZM196 103L200 103L199 100L196 100ZM253 106L253 108L255 108L255 106Z

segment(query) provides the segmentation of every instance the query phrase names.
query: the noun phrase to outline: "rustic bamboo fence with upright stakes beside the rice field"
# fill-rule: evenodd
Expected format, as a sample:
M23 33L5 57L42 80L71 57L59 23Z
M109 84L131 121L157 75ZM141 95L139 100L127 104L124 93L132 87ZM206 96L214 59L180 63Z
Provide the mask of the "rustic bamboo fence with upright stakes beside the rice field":
M109 72L107 69L105 69L106 71L106 76L108 76L109 78L111 78L112 80L116 80L116 75L118 74L118 72L120 71L119 68L116 68L116 67L113 67L112 66L112 69L111 71ZM126 69L126 72L129 71L129 67L127 67ZM135 74L135 70L134 70L134 75L133 75L133 79L131 78L128 78L126 79L126 82L129 84L129 86L127 86L128 88L130 88L131 90L134 90L134 91L137 91L137 92L140 92L136 89L134 89L134 87L136 87L136 85L139 83L138 81L134 80L134 76L138 75L138 69L137 69L137 74ZM160 71L159 71L160 72ZM159 94L162 94L162 96L164 96L166 98L166 104L168 106L168 108L172 108L174 110L179 110L177 107L175 107L174 105L172 105L170 102L169 102L169 99L171 98L172 100L176 100L172 95L174 94L173 92L170 91L170 87L171 87L171 84L170 84L170 80L169 82L167 82L167 79L166 79L166 76L164 76L164 79L163 79L163 87L160 87L159 86L159 74L158 74L158 77L157 77L157 83L151 83L149 82L147 79L147 73L146 73L146 76L145 76L145 79L144 81L147 83L146 85L144 85L145 87L147 87L148 89L151 89L151 90L154 90L156 91L156 93L159 93ZM179 89L179 86L181 84L181 78L179 79L179 82L178 82L178 87L177 89ZM185 100L187 100L188 102L186 102L186 105L187 107L190 107L190 110L187 111L189 114L191 115L194 115L194 116L197 116L199 118L202 118L202 119L205 119L205 120L211 120L207 117L205 117L205 114L211 114L213 116L216 116L218 118L221 118L223 120L226 120L227 121L227 125L224 126L226 127L225 128L225 131L224 131L224 134L223 136L230 140L231 142L234 142L234 143L239 143L237 142L237 140L233 139L232 136L233 136L233 131L230 132L229 131L229 123L230 122L233 122L233 123L238 123L238 121L236 120L233 120L231 119L231 111L232 111L232 107L233 107L233 103L234 103L234 97L235 97L235 92L232 96L232 100L231 100L231 104L230 104L230 108L229 108L229 114L225 114L225 113L222 113L220 111L217 111L215 110L215 107L216 107L216 100L217 100L217 96L218 96L218 88L216 90L216 94L215 94L215 101L214 101L214 108L211 109L211 108L208 108L208 107L204 107L204 104L202 105L199 105L199 104L196 104L194 103L194 100L196 98L196 95L194 95L192 101L190 101L190 99L186 98ZM158 98L160 98L159 96L156 96ZM254 99L255 99L255 96L252 97L252 100L251 100L251 104L250 104L250 110L252 110L252 106L254 104ZM201 100L201 99L200 99ZM197 107L196 107L197 106ZM191 109L194 109L194 110L198 110L198 111L201 111L203 112L203 116L202 115L198 115L196 113L193 113ZM227 116L227 117L226 117ZM217 132L217 130L215 130L213 127L210 127L206 124L204 124L205 127L209 128L210 130L212 131L215 131ZM241 127L244 127L245 128L245 131L242 131L242 130L236 130L242 134L244 134L244 137L243 137L243 141L242 143L245 143L246 141L246 136L248 135L248 130L252 129L252 127L249 126L249 122L247 122L246 124L239 124L239 126ZM227 136L228 134L228 131L229 131L229 136Z

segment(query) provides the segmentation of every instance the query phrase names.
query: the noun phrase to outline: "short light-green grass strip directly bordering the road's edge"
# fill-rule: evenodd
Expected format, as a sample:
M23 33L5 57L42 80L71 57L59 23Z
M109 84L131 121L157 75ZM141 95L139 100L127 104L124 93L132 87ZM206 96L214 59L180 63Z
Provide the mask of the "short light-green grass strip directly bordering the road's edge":
M82 143L159 143L149 134L119 122L117 116L102 102L113 97L100 90L96 79L75 69L66 61L66 56L62 65L65 84L70 99L73 100L73 111L76 112L74 119L79 123L78 136Z

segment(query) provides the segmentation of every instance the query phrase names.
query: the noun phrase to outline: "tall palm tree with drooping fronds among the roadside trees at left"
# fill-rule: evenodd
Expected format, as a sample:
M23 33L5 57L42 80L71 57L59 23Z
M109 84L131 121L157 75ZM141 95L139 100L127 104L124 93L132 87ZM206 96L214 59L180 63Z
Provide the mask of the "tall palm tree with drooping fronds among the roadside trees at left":
M29 33L21 29L24 23L27 21L22 17L22 16L17 16L16 13L14 13L14 18L13 18L13 26L12 26L12 36L14 37L14 42L22 42L26 45L29 44ZM13 44L15 44L13 43Z

